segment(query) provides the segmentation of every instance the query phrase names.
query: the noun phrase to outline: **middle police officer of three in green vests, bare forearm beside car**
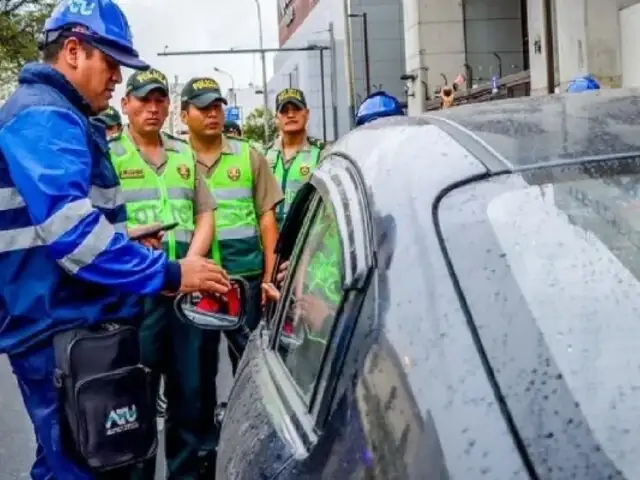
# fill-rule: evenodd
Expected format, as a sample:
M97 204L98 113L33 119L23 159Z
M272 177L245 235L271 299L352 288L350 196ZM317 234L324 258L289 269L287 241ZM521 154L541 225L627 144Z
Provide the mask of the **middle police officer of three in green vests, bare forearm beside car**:
M194 78L182 90L182 121L189 129L197 167L218 202L214 261L250 286L251 329L260 318L261 283L271 277L283 195L266 159L246 140L222 134L226 99L213 78ZM241 340L240 350L243 350ZM231 353L233 371L238 356ZM237 352L239 355L242 352Z

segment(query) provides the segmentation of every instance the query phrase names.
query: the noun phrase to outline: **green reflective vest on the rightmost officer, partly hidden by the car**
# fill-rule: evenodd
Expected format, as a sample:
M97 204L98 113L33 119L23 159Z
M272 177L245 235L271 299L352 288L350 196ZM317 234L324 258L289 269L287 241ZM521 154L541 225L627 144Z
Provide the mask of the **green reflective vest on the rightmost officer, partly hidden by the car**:
M318 147L311 146L309 150L298 152L289 166L285 167L282 153L279 150L271 148L267 151L267 160L284 193L284 201L278 205L276 210L276 219L280 226L289 212L296 193L309 180L311 173L318 166L320 152Z

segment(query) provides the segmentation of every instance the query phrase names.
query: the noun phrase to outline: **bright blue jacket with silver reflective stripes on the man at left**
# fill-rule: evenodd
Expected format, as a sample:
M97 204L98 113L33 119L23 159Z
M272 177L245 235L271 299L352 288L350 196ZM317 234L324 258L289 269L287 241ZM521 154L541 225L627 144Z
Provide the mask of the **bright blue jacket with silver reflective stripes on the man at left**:
M104 128L52 67L24 67L0 108L0 353L132 318L180 267L127 240Z

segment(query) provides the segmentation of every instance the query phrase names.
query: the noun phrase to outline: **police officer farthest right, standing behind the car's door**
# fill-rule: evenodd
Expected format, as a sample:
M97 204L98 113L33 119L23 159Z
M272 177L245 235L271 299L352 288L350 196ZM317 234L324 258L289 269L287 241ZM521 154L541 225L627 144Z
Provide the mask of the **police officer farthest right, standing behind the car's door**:
M284 192L284 202L276 210L282 226L298 189L318 166L324 144L307 136L309 109L302 90L286 88L278 93L276 114L280 135L266 148L266 156Z

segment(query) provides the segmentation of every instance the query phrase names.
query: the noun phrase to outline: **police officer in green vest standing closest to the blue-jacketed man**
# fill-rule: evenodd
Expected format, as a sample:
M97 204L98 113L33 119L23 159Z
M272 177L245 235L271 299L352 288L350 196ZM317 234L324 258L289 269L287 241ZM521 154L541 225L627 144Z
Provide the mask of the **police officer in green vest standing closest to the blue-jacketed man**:
M177 222L164 233L162 248L171 259L208 256L214 232L215 202L197 173L187 142L161 132L169 115L169 85L158 70L136 72L127 81L122 110L129 126L110 142L111 158L120 177L130 231L149 224ZM165 374L166 457L172 478L194 478L199 452L215 433L215 375L208 332L176 316L173 299L149 297L140 330L142 362ZM209 431L206 423L209 422ZM209 438L207 438L209 436ZM213 449L209 452L213 455ZM153 479L155 461L145 466Z

